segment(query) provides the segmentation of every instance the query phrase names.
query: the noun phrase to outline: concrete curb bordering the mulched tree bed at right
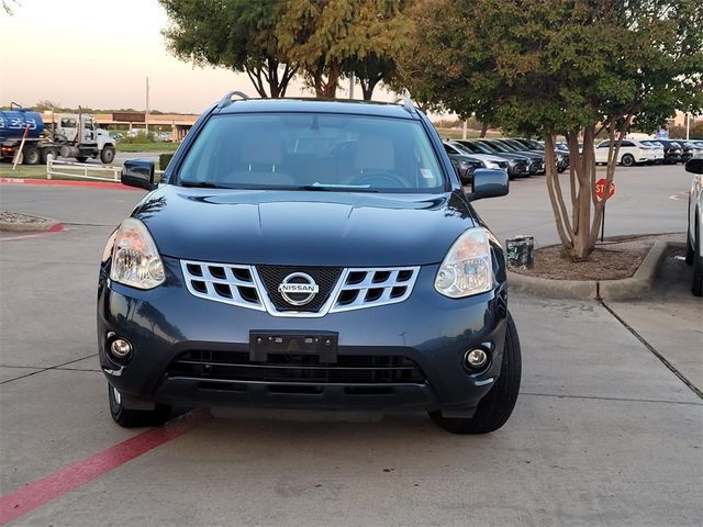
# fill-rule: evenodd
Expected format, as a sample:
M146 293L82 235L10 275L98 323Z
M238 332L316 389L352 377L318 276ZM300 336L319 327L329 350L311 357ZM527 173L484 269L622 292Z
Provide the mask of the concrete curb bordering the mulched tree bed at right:
M641 296L651 289L659 272L669 246L678 247L677 242L656 242L639 265L635 274L621 280L549 280L528 277L507 271L507 283L511 291L521 291L568 300L629 300Z

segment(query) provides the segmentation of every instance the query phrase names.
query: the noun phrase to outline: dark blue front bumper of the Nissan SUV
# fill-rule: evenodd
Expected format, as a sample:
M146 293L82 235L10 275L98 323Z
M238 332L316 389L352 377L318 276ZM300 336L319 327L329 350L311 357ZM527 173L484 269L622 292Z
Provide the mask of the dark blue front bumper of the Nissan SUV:
M426 266L404 302L320 318L280 317L196 298L182 283L178 260L164 258L164 265L167 281L152 291L110 282L102 273L100 277L100 363L123 395L125 406L158 402L185 406L444 410L470 415L500 374L506 317L504 284L496 291L451 300L434 291L437 266ZM203 374L208 370L183 374L174 366L183 354L193 351L209 357L246 356L250 330L334 332L338 334L341 361L360 357L383 362L401 357L416 365L421 375L384 378L382 382L335 381L338 369L328 365L327 374L306 380L226 374L210 378ZM116 363L105 352L105 338L113 333L134 347L126 365ZM487 345L492 346L490 363L479 373L469 373L461 366L465 351Z

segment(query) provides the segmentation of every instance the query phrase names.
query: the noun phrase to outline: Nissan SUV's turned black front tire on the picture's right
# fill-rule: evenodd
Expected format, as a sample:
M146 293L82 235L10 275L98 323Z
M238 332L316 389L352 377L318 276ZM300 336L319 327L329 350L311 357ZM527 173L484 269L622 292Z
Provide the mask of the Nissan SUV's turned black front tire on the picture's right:
M513 317L509 313L501 374L479 403L473 417L443 417L442 412L429 412L429 417L436 425L453 434L488 434L498 430L513 413L520 393L521 374L520 339Z

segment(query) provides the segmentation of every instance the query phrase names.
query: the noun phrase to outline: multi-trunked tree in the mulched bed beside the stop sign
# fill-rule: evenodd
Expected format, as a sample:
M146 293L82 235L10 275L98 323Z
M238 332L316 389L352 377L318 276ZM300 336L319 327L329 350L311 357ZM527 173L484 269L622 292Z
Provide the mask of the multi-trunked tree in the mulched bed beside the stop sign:
M610 183L635 120L654 126L703 108L700 0L424 0L411 16L401 82L461 116L544 137L549 202L574 260L595 246L606 202L595 197L595 136L611 139ZM557 134L570 150L567 199Z

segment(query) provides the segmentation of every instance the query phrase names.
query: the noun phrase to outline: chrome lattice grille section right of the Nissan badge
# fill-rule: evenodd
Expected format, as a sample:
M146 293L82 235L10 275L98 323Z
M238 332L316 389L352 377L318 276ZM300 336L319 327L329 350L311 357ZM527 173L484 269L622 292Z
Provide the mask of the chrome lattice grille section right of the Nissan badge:
M332 312L402 302L410 296L419 267L348 269Z

